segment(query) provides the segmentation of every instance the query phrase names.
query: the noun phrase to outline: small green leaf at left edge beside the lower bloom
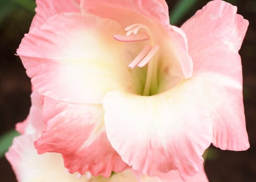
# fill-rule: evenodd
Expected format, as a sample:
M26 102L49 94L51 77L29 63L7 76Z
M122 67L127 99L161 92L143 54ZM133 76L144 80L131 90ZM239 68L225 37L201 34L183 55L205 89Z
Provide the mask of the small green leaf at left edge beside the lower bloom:
M13 139L20 134L15 130L11 130L0 136L0 158L2 158L8 148L13 144Z

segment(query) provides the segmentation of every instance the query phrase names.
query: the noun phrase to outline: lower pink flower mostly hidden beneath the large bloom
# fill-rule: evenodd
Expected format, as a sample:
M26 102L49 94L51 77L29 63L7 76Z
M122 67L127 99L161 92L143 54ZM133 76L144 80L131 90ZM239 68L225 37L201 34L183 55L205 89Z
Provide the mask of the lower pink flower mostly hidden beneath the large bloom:
M6 153L6 158L10 162L19 182L27 181L62 181L62 182L180 182L183 181L177 171L166 174L149 177L133 170L126 170L121 173L115 173L109 178L101 176L91 176L89 172L85 175L79 173L70 174L63 165L63 159L59 153L37 154L33 146L33 141L38 139L40 130L45 125L42 122L42 97L37 92L31 95L32 106L28 118L17 124L18 131L22 134L14 139L13 145ZM36 122L37 121L37 122ZM35 125L36 123L36 125ZM207 181L203 167L200 172L189 179L193 181Z

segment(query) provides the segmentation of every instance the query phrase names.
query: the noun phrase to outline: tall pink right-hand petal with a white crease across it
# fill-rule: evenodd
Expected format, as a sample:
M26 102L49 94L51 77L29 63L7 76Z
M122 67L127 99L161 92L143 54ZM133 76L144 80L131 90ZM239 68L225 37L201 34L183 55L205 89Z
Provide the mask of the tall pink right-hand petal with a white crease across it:
M235 6L212 1L181 27L188 37L193 75L204 78L214 125L213 144L224 150L249 148L238 54L248 21L236 12Z

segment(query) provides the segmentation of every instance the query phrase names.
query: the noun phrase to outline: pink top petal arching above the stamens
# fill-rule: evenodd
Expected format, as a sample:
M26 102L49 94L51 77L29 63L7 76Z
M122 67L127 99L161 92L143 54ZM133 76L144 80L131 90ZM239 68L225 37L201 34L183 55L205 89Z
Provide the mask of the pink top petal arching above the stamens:
M145 18L169 26L168 6L164 0L82 0L81 11L117 20L124 27Z

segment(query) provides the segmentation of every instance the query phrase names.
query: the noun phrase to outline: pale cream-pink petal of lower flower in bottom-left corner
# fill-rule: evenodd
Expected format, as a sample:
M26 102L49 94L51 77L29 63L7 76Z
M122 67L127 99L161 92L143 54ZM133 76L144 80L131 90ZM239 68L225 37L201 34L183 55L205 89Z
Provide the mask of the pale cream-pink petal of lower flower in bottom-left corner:
M14 139L13 145L5 154L19 182L28 181L89 181L86 176L77 178L69 174L63 165L62 157L57 153L38 155L33 147L36 135L22 135Z

